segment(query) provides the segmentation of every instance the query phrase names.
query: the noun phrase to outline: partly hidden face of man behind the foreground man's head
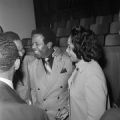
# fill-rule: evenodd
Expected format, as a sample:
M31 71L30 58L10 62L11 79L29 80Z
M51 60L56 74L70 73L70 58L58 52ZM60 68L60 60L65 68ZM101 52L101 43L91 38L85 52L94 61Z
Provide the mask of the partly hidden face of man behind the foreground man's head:
M19 52L19 56L23 57L23 55L25 53L25 50L23 48L21 40L15 40L14 42L15 42L15 44L17 46L17 49L18 49L18 52Z

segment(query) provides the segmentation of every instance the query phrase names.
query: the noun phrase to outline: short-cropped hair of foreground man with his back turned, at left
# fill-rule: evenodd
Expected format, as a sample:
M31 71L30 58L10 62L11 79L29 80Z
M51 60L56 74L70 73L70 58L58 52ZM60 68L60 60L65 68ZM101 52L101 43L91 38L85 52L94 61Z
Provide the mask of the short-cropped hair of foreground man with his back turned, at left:
M8 71L19 57L17 47L13 41L0 35L0 70Z

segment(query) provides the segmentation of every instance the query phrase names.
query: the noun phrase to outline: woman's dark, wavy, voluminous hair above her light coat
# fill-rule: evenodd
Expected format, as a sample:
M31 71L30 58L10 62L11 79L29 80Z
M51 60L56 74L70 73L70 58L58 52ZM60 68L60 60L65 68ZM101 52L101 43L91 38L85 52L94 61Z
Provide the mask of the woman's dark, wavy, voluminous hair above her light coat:
M71 30L70 36L74 45L73 51L79 59L89 62L92 59L98 61L102 57L102 47L93 31L79 26Z

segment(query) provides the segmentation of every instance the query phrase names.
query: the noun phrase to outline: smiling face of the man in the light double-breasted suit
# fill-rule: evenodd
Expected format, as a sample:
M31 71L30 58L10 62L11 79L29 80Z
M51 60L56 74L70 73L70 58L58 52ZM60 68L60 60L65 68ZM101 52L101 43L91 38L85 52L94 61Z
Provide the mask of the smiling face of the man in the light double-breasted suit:
M35 34L32 37L32 49L37 58L45 58L48 47L44 43L44 36L42 34Z

